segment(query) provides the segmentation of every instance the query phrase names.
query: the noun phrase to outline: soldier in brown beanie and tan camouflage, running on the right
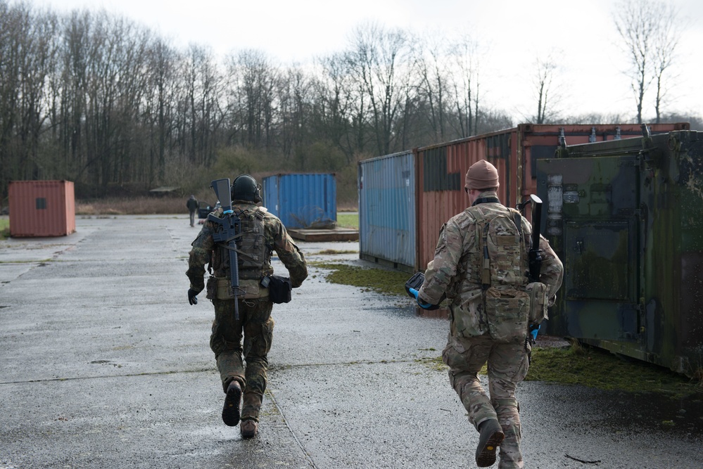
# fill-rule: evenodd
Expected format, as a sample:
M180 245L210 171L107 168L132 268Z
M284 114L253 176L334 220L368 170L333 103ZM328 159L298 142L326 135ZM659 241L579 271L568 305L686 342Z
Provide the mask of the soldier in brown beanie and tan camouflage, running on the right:
M519 262L521 265L518 266L503 265L502 269L516 271L516 278L523 276L523 281L519 283L524 285L528 283L526 259L532 229L524 217L514 210L511 212L500 203L496 192L498 184L498 171L490 162L481 160L471 165L465 185L471 207L452 217L442 227L435 257L427 266L417 300L424 307L438 304L444 293L450 300L450 333L442 357L450 368L452 387L466 407L469 420L480 432L476 464L479 467L493 465L496 450L500 446L499 467L507 469L524 467L515 390L528 371L530 319L520 316L519 319L513 318L507 322L502 319L501 323L500 314L505 311L492 311L490 306L486 310L485 284L481 278L483 256L482 249L479 248L481 241L476 236L476 226L479 223L477 220L491 219L500 213L512 213L512 216L517 214L514 220L521 220L521 226L516 226L516 233L524 236L524 244L518 245L524 250L521 258L525 261ZM516 238L519 239L519 235L512 239ZM546 284L546 287L540 285L540 288L543 288L544 302L551 305L562 285L562 262L545 238L540 239L540 249L543 250L540 282ZM517 253L520 256L519 250ZM491 259L491 262L495 262L495 259ZM504 333L507 330L508 334L499 338L496 330ZM481 386L478 374L486 362L490 399Z

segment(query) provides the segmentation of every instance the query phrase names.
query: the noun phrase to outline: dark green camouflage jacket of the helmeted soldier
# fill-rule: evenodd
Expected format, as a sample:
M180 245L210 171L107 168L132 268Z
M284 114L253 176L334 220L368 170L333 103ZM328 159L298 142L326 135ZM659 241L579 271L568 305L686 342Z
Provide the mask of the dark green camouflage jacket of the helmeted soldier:
M239 212L240 210L248 210L253 212L257 210L257 206L253 203L235 200L233 203L233 210ZM293 239L286 231L286 227L281 220L274 214L270 214L262 207L259 207L258 212L262 214L262 221L264 227L263 241L265 244L265 258L262 259L262 265L258 269L260 275L270 275L273 274L273 267L271 266L271 255L275 251L283 262L286 269L288 269L291 283L293 288L299 287L305 278L308 277L308 264L305 262L305 257L303 252L300 252L298 246L293 243ZM222 208L215 210L213 212L217 217L222 217ZM229 269L225 272L220 268L220 266L213 267L213 258L218 255L218 250L221 248L217 246L213 240L213 233L215 233L217 225L212 221L205 221L203 224L203 229L198 234L198 237L191 243L193 248L189 253L188 270L186 271L186 276L191 281L191 286L193 290L200 293L205 288L205 281L203 276L205 275L205 264L210 264L209 269L215 269L213 274L215 276L225 276L229 275ZM242 262L240 256L240 264Z

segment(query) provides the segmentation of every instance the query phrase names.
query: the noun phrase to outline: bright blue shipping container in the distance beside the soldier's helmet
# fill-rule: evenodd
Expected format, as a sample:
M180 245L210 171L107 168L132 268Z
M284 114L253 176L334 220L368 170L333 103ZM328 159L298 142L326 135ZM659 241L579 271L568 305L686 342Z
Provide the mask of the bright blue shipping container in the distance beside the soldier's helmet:
M263 205L287 228L330 228L337 221L334 174L274 174L263 179Z

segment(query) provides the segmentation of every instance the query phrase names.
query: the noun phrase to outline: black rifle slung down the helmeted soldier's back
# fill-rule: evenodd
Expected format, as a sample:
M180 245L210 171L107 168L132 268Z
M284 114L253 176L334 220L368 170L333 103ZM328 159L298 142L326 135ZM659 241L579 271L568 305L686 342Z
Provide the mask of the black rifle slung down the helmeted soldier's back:
M241 221L234 214L234 210L232 210L232 193L230 192L229 178L216 179L211 184L210 187L213 188L215 195L217 195L217 200L220 200L222 205L224 217L220 218L210 213L208 214L208 221L212 221L216 226L215 233L213 233L215 243L224 245L224 248L229 251L230 287L235 297L234 319L239 321L239 300L236 299L236 295L239 294L239 259L236 252L236 240L241 236Z

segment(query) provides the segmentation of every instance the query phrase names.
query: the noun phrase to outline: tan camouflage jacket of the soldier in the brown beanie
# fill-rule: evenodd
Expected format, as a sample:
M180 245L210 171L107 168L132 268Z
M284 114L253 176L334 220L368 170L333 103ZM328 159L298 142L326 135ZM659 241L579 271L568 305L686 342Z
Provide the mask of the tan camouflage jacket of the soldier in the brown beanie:
M486 191L479 197L497 197L497 194L495 191ZM438 304L446 293L452 307L458 307L481 294L481 272L476 267L480 265L476 256L481 256L481 253L478 252L476 221L472 214L475 210L476 207L468 207L442 226L435 257L427 264L425 281L419 291L419 298L423 302ZM481 210L507 209L500 203L484 203L481 204ZM528 249L531 244L532 226L524 217L521 217L521 221L521 231ZM543 250L540 282L547 285L551 305L562 285L563 266L549 242L543 237L540 237L540 249ZM528 252L525 252L525 257L527 256ZM525 276L527 274L526 271ZM480 335L480 331L476 335Z

